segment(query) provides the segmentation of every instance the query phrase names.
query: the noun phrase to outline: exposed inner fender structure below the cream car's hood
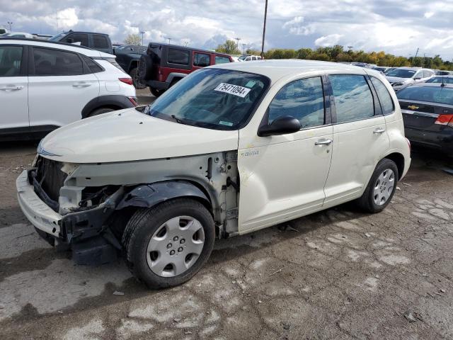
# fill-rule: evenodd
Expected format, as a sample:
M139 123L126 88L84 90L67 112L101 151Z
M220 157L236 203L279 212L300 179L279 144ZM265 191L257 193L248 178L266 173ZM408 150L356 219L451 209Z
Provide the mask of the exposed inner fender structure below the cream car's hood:
M59 213L62 215L96 208L96 200L88 200L88 189L96 192L95 189L105 186L121 186L125 189L125 195L117 204L117 210L130 205L147 206L147 203L139 202L140 200L149 200L151 203L155 201L158 204L175 197L202 195L212 206L220 236L237 232L237 213L231 215L231 211L237 212L239 203L236 151L136 162L75 165L62 166L62 170L68 174L60 189ZM153 187L154 184L170 181L179 181L179 186ZM140 186L144 186L140 190L149 191L148 195L160 191L160 196L154 194L149 199L139 197L142 196L142 193L137 195ZM193 186L193 194L189 193L188 186ZM163 194L164 191L166 194ZM178 192L180 196L176 196ZM133 204L127 203L129 193L136 196Z

